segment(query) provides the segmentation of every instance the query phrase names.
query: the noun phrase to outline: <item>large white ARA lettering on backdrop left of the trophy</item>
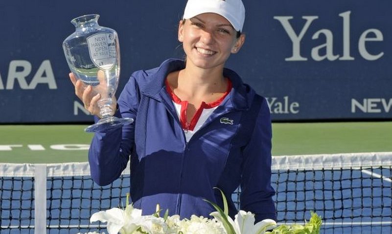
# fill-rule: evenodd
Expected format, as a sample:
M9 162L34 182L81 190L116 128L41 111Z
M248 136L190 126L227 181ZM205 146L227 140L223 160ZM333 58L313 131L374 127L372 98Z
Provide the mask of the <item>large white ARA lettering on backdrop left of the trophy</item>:
M26 60L13 60L8 66L5 89L14 89L18 83L21 89L35 89L38 84L46 84L49 89L57 89L54 73L49 60L44 60L35 72L30 84L26 78L31 74L31 64ZM0 74L0 89L4 89Z

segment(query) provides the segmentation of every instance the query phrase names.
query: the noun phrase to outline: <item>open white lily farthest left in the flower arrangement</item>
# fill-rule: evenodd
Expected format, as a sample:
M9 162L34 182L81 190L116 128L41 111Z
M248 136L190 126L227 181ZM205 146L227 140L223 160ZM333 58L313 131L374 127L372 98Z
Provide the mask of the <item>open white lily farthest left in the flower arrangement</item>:
M93 213L90 222L108 222L107 230L109 234L132 234L143 223L141 210L133 208L131 205L125 211L119 208L112 208L107 211Z

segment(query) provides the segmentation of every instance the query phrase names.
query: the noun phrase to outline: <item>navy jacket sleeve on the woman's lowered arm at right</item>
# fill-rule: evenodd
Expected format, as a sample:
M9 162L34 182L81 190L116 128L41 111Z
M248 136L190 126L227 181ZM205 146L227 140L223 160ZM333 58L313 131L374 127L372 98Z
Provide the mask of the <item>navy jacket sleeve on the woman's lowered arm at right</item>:
M271 186L271 114L263 99L254 131L243 150L241 177L241 210L255 214L256 222L269 218L277 220Z

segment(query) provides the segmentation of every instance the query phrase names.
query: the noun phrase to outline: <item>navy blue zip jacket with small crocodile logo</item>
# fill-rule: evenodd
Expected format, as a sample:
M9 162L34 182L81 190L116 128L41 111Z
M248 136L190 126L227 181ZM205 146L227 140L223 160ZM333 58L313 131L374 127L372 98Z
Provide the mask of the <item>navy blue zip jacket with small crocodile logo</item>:
M229 95L186 143L165 89L167 74L183 68L184 61L170 59L132 74L116 115L135 122L95 133L89 150L92 179L99 185L112 183L130 159L131 199L143 214L154 213L158 203L170 215L209 217L214 209L203 199L223 207L220 192L213 189L218 187L226 194L233 217L237 211L231 193L241 186L241 210L255 213L256 221L276 219L266 100L225 68L224 76L232 83ZM258 106L252 105L256 96Z

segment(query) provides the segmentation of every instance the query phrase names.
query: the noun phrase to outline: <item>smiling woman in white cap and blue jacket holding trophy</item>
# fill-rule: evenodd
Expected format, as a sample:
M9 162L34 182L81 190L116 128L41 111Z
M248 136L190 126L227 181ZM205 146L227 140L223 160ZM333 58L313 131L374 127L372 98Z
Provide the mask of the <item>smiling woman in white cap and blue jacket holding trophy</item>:
M144 214L157 204L182 218L223 207L220 188L241 186L241 210L256 221L276 219L271 187L271 120L264 98L224 68L245 41L241 0L188 0L178 40L186 60L169 59L132 74L115 115L135 119L122 129L96 133L89 162L92 179L107 185L131 161L131 198ZM99 116L91 88L73 75L76 94ZM97 117L96 117L97 119Z

